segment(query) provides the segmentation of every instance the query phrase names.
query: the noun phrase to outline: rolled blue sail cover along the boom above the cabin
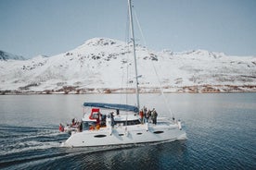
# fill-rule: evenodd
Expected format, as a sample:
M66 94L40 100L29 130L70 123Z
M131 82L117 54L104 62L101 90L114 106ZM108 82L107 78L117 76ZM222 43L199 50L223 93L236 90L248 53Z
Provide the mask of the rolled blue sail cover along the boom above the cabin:
M138 113L138 108L133 105L120 104L120 103L83 103L85 107L99 107L105 109L115 109L122 111L131 111L134 113Z

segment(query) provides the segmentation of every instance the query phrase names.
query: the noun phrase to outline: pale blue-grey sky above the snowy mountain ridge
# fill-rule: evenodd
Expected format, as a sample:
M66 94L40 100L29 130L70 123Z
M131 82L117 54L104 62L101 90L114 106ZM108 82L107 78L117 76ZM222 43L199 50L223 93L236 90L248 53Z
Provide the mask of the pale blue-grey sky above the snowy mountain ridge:
M256 55L256 0L133 5L150 49ZM95 37L125 41L127 15L127 0L0 0L0 50L31 58L58 55ZM135 36L145 45L138 27Z

